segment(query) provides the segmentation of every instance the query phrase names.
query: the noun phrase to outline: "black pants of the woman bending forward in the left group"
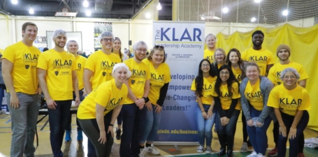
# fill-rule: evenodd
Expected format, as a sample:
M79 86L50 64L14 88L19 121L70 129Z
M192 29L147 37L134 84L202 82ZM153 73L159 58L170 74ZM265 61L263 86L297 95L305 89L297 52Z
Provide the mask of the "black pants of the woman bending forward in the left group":
M108 112L104 116L104 126L105 126L105 131L106 131L106 143L101 144L99 142L99 137L100 137L100 131L99 131L99 125L97 124L96 119L79 119L80 125L82 126L82 129L89 138L89 140L92 142L94 145L94 148L96 150L96 156L98 157L108 157L110 156L110 152L112 151L112 146L114 139L111 135L111 133L108 132L108 124L110 124L110 120L112 119L113 115L113 110ZM94 155L93 155L94 156Z

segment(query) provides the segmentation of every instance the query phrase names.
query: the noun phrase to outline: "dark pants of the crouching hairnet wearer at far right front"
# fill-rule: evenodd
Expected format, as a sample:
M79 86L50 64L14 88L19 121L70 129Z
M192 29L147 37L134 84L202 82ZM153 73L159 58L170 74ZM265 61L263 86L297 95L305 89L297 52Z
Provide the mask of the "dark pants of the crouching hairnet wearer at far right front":
M305 112L305 111L304 111ZM301 134L303 133L303 130L307 127L308 121L309 121L309 115L303 114L303 117L301 117L301 120L299 121L297 125L297 132L296 137L294 139L289 139L288 133L291 128L291 124L294 122L294 116L291 116L289 114L282 114L282 121L284 121L284 125L287 128L287 137L283 137L278 132L278 157L286 155L286 142L289 140L289 157L297 157L299 153L299 138L301 137ZM279 131L279 130L278 130Z

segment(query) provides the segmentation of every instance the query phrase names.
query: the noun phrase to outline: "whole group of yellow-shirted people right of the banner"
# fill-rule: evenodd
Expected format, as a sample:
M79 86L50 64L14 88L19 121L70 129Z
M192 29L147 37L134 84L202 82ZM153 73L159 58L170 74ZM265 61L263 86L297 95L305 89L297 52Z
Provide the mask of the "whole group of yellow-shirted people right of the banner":
M305 89L308 75L301 64L289 60L288 45L277 47L280 61L275 63L272 52L261 47L263 39L262 31L254 31L253 47L242 54L233 48L226 55L222 48L215 48L214 35L206 36L208 48L191 85L197 96L198 153L212 152L212 126L216 121L215 130L221 145L218 154L233 156L236 122L242 110L241 152L247 152L249 137L254 151L248 157L265 156L266 130L273 120L276 147L268 156L285 156L288 137L289 156L305 156L303 130L309 121L307 110L310 110L310 98Z

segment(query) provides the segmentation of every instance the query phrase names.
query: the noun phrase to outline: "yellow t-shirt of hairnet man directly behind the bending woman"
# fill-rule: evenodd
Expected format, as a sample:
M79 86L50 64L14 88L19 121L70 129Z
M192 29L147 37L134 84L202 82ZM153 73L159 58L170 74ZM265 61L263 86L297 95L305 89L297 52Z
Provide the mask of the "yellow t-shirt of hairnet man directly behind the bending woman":
M91 54L86 63L85 68L92 70L93 75L90 79L92 89L95 89L99 84L112 80L112 70L115 63L121 63L119 57L115 54L104 54L101 50L98 50Z

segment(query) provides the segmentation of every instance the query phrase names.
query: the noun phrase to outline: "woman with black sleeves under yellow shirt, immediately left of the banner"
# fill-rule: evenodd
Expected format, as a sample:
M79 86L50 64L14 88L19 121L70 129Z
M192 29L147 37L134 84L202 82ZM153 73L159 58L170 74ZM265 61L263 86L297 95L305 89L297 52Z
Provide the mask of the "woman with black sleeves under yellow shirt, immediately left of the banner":
M155 155L160 154L153 142L159 129L162 105L171 81L170 68L168 64L164 63L166 61L165 54L164 47L156 45L152 48L147 59L143 59L143 62L150 68L152 77L150 78L149 101L145 103L147 108L145 130L139 142L140 148L144 149L140 150L139 156L143 156L144 151Z

